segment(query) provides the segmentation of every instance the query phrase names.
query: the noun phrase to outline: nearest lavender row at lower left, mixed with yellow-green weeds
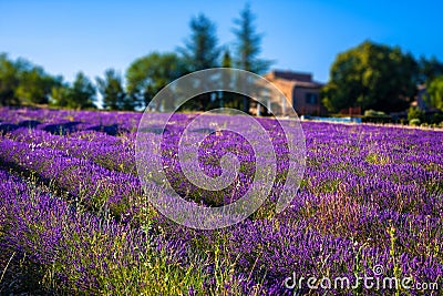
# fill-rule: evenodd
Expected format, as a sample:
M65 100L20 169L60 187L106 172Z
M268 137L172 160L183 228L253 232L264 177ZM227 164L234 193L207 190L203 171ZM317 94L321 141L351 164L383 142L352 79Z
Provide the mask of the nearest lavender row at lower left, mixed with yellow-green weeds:
M65 201L0 171L0 249L40 266L61 294L264 295L260 285L193 255L178 241L80 213ZM226 262L223 262L226 263ZM214 280L215 273L225 273ZM51 275L49 277L49 275ZM50 279L48 279L50 278Z

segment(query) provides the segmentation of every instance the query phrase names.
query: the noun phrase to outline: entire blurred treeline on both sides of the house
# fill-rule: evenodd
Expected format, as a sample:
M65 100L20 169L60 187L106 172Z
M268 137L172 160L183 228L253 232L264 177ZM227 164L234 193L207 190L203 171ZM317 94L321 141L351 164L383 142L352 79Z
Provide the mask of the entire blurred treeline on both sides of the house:
M174 52L152 52L132 62L124 76L107 69L94 81L80 72L68 83L23 59L13 61L0 54L0 105L95 109L100 93L103 109L142 110L162 88L193 71L225 67L260 74L272 63L260 58L261 34L256 31L249 6L234 21L231 47L219 44L215 23L204 14L192 18L189 29L190 34ZM404 111L415 100L418 85L425 89L422 99L426 108L443 110L441 61L415 59L399 47L368 40L337 55L321 90L321 102L331 113L348 108ZM226 93L223 101L249 110L249 100L234 93ZM210 95L200 95L194 108L209 108L210 103Z

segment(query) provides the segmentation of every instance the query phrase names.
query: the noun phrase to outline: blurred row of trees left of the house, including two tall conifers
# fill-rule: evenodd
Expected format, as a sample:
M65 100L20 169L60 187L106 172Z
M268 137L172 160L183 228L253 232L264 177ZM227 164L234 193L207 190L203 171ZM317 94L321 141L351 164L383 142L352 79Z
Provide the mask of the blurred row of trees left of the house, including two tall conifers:
M259 57L261 34L256 32L255 16L248 4L234 21L231 49L219 44L215 23L204 14L192 18L189 28L189 37L175 52L152 52L136 59L124 78L107 69L95 81L79 72L73 83L68 83L24 59L11 60L6 53L0 54L0 105L95 109L100 93L103 109L143 109L162 88L193 71L234 67L262 73L271 64ZM245 109L244 100L238 99L237 105Z

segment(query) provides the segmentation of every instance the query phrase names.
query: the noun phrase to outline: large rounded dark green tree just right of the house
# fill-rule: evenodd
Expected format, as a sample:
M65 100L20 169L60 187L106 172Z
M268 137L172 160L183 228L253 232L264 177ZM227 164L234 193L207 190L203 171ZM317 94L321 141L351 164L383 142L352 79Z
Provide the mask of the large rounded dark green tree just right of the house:
M337 55L322 102L331 112L349 106L401 111L416 93L418 72L410 53L364 41Z

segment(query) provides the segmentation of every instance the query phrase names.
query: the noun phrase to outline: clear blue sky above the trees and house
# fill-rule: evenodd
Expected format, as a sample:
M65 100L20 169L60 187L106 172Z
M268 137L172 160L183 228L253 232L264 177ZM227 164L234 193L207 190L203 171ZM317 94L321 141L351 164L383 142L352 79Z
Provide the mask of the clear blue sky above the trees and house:
M51 74L91 79L107 68L123 74L152 51L174 51L189 20L205 13L220 44L231 45L233 20L246 1L0 0L0 52L22 57ZM274 69L311 72L326 82L337 53L365 39L443 61L442 1L249 1L261 57Z

